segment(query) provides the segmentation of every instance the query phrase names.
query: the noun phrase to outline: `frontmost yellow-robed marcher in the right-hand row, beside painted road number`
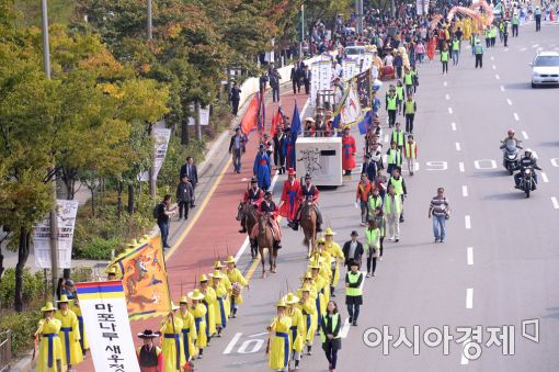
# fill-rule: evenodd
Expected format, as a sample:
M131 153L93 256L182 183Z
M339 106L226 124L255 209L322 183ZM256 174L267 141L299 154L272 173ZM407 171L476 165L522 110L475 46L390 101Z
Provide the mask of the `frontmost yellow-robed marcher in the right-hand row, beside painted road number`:
M282 298L276 303L277 316L266 330L270 332L266 353L270 356L267 365L271 370L287 372L289 368L289 329L292 318L285 314L286 304Z

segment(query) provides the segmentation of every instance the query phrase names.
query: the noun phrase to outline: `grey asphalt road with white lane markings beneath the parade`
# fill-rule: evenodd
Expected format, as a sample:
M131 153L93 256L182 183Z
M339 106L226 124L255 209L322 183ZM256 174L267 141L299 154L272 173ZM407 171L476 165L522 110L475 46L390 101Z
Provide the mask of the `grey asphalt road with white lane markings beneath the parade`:
M441 76L438 61L420 67L414 129L420 169L413 177L404 172L409 198L401 239L385 244L377 277L365 282L360 325L344 327L338 371L559 370L559 243L554 236L559 226L559 89L529 87L528 64L540 48L559 49L559 26L544 26L538 34L533 26L522 27L509 48L498 42L495 49L486 52L481 70L474 68L469 48L463 48L458 67L450 63L447 76ZM402 116L398 119L403 122ZM537 153L544 168L539 189L529 199L513 188L512 177L501 166L499 145L510 127L525 147ZM361 159L363 140L354 131ZM363 235L353 204L357 178L354 174L343 187L321 192L324 219L338 233L339 244L352 229ZM274 190L276 199L283 180L278 179ZM444 244L433 243L426 217L437 187L446 189L453 210ZM238 318L229 322L225 336L213 340L205 358L196 361L198 370L267 370L265 327L287 283L292 289L299 284L306 267L301 240L300 232L284 229L278 272L260 279L256 269ZM246 255L248 250L243 261ZM345 317L342 284L335 300ZM522 322L527 319L538 323L538 342L523 336ZM393 336L388 354L383 343L364 342L367 329L381 330L383 326ZM419 341L395 348L400 327L413 342L413 326L419 326ZM430 347L423 341L426 329L443 331L445 326L454 337L448 340L447 354L445 342ZM501 335L503 326L514 328L505 342L512 356L503 356L503 346L484 345L491 335L489 327L500 327ZM474 327L474 332L468 337L466 331L464 337L458 327ZM534 326L525 330L534 335ZM459 338L479 342L479 358L468 360ZM375 341L375 336L369 339ZM303 359L301 371L327 370L319 338L313 350Z

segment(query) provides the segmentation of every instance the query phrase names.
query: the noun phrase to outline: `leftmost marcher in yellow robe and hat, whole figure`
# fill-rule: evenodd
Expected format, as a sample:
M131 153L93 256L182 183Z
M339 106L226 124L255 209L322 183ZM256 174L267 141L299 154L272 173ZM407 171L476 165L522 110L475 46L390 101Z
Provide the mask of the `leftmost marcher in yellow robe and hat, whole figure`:
M38 372L62 372L62 345L58 334L62 323L55 318L56 308L52 302L47 302L41 308L43 319L38 320L35 338L38 338Z

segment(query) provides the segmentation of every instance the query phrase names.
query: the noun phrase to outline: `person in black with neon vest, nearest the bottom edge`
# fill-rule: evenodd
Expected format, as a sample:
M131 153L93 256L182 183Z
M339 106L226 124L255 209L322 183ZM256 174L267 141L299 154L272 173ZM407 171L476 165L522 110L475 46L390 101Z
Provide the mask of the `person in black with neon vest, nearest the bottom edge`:
M322 349L328 359L328 371L335 372L338 351L342 348L340 334L342 320L340 319L340 312L335 301L330 301L327 305L327 311L320 316L322 317L321 341Z

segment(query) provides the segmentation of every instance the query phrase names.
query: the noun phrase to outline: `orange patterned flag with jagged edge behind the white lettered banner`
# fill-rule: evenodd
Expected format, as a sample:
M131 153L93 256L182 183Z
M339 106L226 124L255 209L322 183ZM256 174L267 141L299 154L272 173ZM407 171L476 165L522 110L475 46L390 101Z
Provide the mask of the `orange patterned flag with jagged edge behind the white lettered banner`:
M137 248L126 250L115 258L111 266L118 267L123 274L130 319L169 313L171 295L159 235Z

